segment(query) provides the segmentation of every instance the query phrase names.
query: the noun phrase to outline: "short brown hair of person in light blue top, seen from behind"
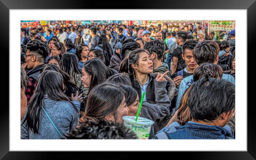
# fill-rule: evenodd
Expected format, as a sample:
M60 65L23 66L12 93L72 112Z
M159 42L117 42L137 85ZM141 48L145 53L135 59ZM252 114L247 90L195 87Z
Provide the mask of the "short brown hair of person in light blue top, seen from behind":
M197 43L196 47L193 49L193 55L198 65L204 62L215 62L216 56L219 52L220 48L218 43L210 40L205 40L201 43Z

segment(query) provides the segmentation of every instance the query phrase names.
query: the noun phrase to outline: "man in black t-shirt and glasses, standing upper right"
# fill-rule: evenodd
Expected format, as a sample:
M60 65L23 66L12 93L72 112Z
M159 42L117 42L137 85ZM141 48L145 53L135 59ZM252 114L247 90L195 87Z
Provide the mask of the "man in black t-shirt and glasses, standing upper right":
M172 74L180 71L186 67L184 60L182 59L182 45L185 43L188 37L187 32L179 31L176 34L176 43L178 47L173 51L173 63L172 63Z

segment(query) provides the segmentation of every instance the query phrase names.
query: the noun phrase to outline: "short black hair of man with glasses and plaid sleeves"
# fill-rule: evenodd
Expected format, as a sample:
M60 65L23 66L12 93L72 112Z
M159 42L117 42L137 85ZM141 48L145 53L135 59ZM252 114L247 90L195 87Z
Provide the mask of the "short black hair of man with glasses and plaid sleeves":
M45 58L49 54L48 45L46 45L44 42L37 40L29 41L29 43L26 46L26 49L29 49L30 51L34 52L39 62L44 62Z

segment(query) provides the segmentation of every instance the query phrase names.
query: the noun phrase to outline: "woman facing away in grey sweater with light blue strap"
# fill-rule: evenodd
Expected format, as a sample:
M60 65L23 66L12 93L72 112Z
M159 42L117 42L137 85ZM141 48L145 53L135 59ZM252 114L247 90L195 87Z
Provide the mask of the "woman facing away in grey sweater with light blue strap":
M35 94L21 121L21 139L60 139L77 126L80 102L70 101L64 89L60 73L40 74Z

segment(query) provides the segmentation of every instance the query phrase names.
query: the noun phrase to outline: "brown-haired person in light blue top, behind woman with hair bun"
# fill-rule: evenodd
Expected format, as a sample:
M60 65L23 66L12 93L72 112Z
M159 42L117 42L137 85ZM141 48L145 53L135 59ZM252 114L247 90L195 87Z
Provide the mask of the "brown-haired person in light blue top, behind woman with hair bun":
M205 40L201 43L198 43L192 52L196 63L200 65L202 63L217 64L219 51L220 48L217 42ZM230 81L232 84L235 84L235 78L233 78L233 76L231 75L223 74L222 79ZM181 81L176 102L176 110L178 109L179 102L185 90L191 84L193 84L193 82L193 75L187 76ZM175 112L175 110L173 112Z

